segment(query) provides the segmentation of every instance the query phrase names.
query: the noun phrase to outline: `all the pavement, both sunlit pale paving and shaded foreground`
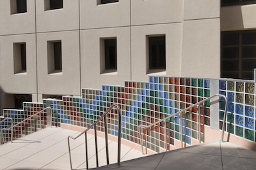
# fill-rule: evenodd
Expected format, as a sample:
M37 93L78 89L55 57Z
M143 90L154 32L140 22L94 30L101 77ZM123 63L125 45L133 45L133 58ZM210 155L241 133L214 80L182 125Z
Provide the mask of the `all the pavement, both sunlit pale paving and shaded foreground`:
M67 137L79 132L47 128L29 134L13 143L0 146L0 169L57 170L70 169ZM232 143L214 141L179 150L154 155L142 155L141 151L121 146L121 166L116 167L117 143L109 141L109 165L106 166L105 141L98 138L99 166L95 164L94 138L88 134L89 167L92 169L256 169L256 152ZM74 169L86 169L84 138L70 141Z

